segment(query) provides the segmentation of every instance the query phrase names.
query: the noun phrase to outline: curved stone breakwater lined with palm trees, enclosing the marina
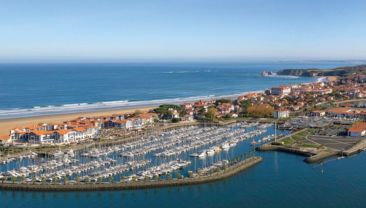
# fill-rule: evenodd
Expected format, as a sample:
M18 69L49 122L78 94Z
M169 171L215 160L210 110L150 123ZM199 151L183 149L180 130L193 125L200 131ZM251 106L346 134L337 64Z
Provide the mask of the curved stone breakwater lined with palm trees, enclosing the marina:
M226 170L221 170L219 173L215 172L209 176L201 176L194 178L183 179L171 179L171 180L159 180L159 181L141 181L141 182L128 182L128 183L101 183L101 184L21 184L17 183L0 183L1 190L20 190L20 191L98 191L98 190L128 190L128 189L141 189L141 188L157 188L157 187L176 187L187 186L195 184L204 184L214 181L223 180L229 178L235 174L238 174L245 169L255 166L263 161L262 157L255 156L255 158L248 158L244 160L244 163L238 162L237 164L228 167Z

